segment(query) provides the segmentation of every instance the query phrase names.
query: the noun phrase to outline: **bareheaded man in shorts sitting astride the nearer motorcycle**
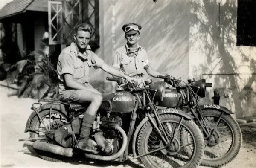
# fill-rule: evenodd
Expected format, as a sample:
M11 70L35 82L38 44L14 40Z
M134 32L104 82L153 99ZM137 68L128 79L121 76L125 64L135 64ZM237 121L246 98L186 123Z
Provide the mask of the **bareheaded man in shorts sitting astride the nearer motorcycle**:
M89 82L90 68L101 68L111 75L131 78L115 68L107 65L91 51L89 44L93 29L89 24L79 24L73 35L74 42L63 49L58 58L58 78L61 80L59 93L65 99L71 99L80 104L90 102L84 113L80 138L76 148L96 153L96 148L89 141L90 129L96 117L96 112L102 103L102 96Z

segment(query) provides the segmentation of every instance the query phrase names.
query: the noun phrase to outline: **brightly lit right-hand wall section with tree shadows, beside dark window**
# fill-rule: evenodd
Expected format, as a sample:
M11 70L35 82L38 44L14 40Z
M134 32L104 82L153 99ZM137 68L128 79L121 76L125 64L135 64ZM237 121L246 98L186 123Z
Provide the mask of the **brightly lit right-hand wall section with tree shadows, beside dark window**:
M236 46L237 1L218 2L191 3L189 76L212 82L236 117L256 115L256 47Z

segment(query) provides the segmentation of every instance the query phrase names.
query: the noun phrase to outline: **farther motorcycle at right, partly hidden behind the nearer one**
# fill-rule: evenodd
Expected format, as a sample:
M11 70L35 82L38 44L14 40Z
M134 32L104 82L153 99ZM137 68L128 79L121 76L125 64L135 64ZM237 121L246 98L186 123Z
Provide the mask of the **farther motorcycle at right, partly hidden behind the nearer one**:
M169 75L158 78L170 85L166 87L163 101L156 102L158 108L175 108L191 114L204 135L201 165L217 168L231 162L242 144L241 129L231 116L233 112L218 104L198 105L198 98L205 97L206 88L212 87L212 83L206 83L205 79L190 79L181 84L180 79ZM145 84L152 84L152 80L145 81Z

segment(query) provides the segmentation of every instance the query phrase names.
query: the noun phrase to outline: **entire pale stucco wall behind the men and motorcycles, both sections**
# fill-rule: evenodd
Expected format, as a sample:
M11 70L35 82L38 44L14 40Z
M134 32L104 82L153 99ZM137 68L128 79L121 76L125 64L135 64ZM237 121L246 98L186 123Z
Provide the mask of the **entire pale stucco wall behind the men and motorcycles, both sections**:
M100 0L99 6L101 46L96 54L107 64L125 44L122 25L139 23L139 44L154 69L183 81L205 78L213 87L202 104L212 103L212 91L218 88L221 105L236 112L235 117L256 115L256 47L236 46L237 0ZM111 92L107 76L95 70L92 81Z

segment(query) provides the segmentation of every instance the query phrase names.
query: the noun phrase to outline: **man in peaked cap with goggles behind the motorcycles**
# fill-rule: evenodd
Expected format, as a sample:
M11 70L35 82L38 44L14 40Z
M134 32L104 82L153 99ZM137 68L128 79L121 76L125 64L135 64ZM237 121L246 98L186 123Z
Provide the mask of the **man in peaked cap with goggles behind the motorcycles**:
M148 75L155 78L157 78L157 75L163 75L151 68L147 52L137 44L140 39L141 26L136 23L129 23L122 26L122 30L125 32L127 43L116 49L113 55L113 67L130 77L136 78L139 86L144 84L144 69Z

